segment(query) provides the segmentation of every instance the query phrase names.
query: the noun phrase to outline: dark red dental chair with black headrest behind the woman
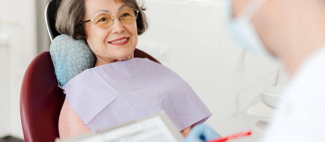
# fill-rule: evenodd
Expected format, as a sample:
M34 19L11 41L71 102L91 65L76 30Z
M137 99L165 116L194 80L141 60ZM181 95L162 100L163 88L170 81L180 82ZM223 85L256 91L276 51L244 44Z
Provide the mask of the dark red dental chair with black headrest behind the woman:
M55 29L58 6L59 0L52 0L45 8L51 41L60 35ZM158 62L139 49L134 51L134 56ZM26 142L53 142L59 137L59 115L64 99L65 94L58 87L50 53L42 52L28 66L21 85L20 117Z

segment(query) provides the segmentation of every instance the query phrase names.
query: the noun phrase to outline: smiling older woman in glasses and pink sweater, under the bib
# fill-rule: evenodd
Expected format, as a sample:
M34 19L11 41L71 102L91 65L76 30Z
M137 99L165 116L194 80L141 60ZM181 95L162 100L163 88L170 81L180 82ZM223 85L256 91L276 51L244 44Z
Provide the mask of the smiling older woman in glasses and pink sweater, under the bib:
M97 58L95 67L99 67L133 58L138 35L148 28L143 10L145 9L139 7L136 0L62 0L56 16L56 28L61 34L84 39ZM200 104L200 101L197 102ZM148 104L147 107L151 106ZM207 112L207 115L200 118L200 122L211 115L206 108L199 111ZM93 131L79 116L66 100L59 117L60 138ZM186 137L192 126L199 121L181 130L183 136Z

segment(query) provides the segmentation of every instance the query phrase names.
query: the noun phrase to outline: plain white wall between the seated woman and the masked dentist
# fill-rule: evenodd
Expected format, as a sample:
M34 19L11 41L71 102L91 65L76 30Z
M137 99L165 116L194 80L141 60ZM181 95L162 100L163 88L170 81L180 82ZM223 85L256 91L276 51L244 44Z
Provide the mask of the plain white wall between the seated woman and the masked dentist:
M246 54L226 32L222 0L146 0L150 27L138 47L186 80L213 115L206 122L222 136L252 130L246 109L259 90L274 85L279 63ZM279 85L287 75L280 72ZM260 135L239 141L257 141Z

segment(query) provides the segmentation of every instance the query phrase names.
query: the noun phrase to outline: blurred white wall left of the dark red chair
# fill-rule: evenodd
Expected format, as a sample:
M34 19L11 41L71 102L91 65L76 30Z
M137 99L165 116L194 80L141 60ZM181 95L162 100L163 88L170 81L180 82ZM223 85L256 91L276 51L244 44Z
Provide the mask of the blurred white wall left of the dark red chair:
M0 0L0 32L9 35L9 94L10 134L23 139L19 96L22 78L36 56L35 0ZM2 113L2 112L0 112ZM0 123L8 123L2 122Z

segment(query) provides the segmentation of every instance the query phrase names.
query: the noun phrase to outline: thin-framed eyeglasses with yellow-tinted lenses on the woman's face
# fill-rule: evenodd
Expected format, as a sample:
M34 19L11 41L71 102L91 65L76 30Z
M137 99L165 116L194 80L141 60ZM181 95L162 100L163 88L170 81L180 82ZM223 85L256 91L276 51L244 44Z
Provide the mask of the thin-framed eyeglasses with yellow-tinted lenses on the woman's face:
M119 15L115 15L115 16L118 16L118 19L121 20L123 23L130 24L136 20L138 16L138 12L139 12L138 10L129 8L123 10ZM89 21L93 21L94 24L99 28L108 28L110 27L110 25L112 25L112 23L114 23L114 16L104 13L104 14L99 14L95 16L93 19L84 22L89 22Z

